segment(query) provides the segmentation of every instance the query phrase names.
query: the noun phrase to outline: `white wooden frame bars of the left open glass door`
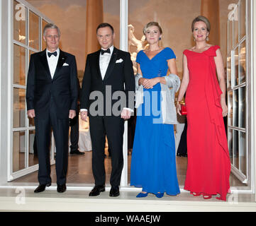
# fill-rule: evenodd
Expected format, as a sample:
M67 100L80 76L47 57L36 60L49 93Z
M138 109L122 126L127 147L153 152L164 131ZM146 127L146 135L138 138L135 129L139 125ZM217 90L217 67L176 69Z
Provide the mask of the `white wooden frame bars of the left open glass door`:
M24 128L13 128L13 88L26 88L26 86L24 85L14 85L12 83L13 81L13 44L18 44L18 46L21 47L25 47L27 49L26 52L26 76L27 76L27 70L28 70L28 62L29 62L29 51L33 51L33 52L38 52L37 49L33 49L32 47L29 47L26 44L22 44L21 42L18 42L16 40L13 40L13 1L8 1L8 12L9 12L9 20L8 20L8 28L9 28L9 32L8 32L8 39L9 39L9 45L8 45L8 57L9 57L9 64L8 64L8 68L9 68L9 75L8 75L8 89L9 89L9 95L8 95L8 109L9 109L9 114L8 114L8 121L9 121L9 129L8 129L8 134L9 134L9 138L8 138L8 181L12 181L13 179L17 179L18 177L21 177L23 175L26 175L30 172L34 172L35 170L38 170L38 164L37 165L33 165L33 166L28 166L25 167L25 169L21 169L18 170L17 172L13 172L13 131L26 131L26 136L25 136L25 142L28 143L28 133L29 130L31 129L35 129L34 126L29 126L28 125L28 119L26 120L26 127ZM42 28L42 20L45 20L48 23L52 23L52 20L50 20L49 18L47 18L45 15L43 15L43 13L40 13L40 11L38 11L38 9L34 8L33 6L31 6L30 4L28 4L27 1L25 0L15 0L18 3L22 4L24 7L28 8L28 11L26 13L26 18L28 20L27 23L27 28L26 28L26 37L27 39L29 38L29 12L33 12L35 13L38 17L39 17L39 28ZM40 29L40 34L39 34L39 51L40 48L42 47L42 38L41 38L41 31L42 29ZM26 110L26 109L25 109ZM52 140L53 141L53 140ZM25 145L26 147L26 145ZM25 152L27 152L28 147L26 147ZM54 150L54 142L52 142L52 150ZM25 155L26 156L26 155ZM28 156L26 157L25 162L28 162ZM52 151L52 156L51 156L51 164L54 164L55 160L54 160L54 152ZM28 164L27 164L28 165Z

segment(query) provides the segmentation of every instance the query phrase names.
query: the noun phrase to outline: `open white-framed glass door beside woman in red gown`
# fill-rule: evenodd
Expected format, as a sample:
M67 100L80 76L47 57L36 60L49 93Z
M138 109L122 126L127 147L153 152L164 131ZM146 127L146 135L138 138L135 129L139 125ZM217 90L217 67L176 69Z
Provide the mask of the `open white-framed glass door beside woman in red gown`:
M228 20L228 148L231 170L243 183L247 183L247 1L238 1ZM230 35L233 35L230 37ZM231 59L230 59L231 58ZM231 62L231 66L230 66ZM231 70L229 72L229 69ZM230 85L230 81L233 84Z

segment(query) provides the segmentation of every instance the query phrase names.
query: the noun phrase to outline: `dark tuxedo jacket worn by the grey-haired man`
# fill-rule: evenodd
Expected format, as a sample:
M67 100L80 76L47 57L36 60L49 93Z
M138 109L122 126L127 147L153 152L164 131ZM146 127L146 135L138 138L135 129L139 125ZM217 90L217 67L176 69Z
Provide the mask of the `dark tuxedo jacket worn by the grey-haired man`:
M77 109L78 84L75 57L60 50L53 78L50 75L46 49L31 54L26 90L27 109L35 109L35 117L49 116L50 100L59 119L68 119L69 110Z

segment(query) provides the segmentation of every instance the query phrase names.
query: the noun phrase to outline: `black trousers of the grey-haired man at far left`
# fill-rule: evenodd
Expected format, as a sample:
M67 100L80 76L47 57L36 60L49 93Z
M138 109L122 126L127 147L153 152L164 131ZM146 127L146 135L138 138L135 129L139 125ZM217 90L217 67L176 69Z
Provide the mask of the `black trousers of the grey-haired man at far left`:
M37 119L35 115L35 134L38 149L38 182L49 184L50 177L50 134L51 129L56 146L56 175L57 184L66 183L69 119L59 119L55 112L53 100L50 100L50 112L45 119Z

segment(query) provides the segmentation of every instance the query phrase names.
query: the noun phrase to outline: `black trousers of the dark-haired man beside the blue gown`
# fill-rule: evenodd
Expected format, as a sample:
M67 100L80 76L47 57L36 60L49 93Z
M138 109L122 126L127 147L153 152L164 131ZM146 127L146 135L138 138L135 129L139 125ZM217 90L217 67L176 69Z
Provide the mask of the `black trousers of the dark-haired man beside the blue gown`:
M106 137L111 149L111 186L119 186L123 170L123 131L121 117L89 117L92 146L92 172L95 185L104 185L106 172L104 167L104 148Z

